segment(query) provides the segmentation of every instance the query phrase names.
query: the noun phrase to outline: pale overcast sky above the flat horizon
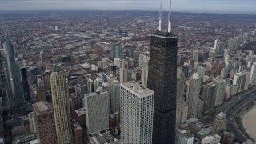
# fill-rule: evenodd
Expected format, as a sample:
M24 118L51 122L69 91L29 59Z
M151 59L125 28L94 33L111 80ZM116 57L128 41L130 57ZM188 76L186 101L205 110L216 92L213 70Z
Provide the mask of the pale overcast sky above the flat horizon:
M162 0L168 9L168 0ZM0 0L2 10L158 10L160 0ZM173 10L256 14L256 0L173 0Z

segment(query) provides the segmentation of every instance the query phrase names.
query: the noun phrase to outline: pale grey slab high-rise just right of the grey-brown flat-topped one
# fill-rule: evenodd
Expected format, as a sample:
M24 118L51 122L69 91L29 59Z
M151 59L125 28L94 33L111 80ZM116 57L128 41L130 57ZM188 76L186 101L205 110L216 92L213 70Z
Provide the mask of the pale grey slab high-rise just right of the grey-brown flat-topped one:
M222 78L214 78L213 82L216 85L215 106L218 106L224 101L225 80Z

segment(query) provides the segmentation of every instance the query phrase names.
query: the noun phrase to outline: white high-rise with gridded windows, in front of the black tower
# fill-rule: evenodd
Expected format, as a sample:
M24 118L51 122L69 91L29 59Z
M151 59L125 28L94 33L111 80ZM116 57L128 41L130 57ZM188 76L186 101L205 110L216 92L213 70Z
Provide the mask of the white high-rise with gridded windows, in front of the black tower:
M151 144L154 91L137 82L121 83L121 141Z

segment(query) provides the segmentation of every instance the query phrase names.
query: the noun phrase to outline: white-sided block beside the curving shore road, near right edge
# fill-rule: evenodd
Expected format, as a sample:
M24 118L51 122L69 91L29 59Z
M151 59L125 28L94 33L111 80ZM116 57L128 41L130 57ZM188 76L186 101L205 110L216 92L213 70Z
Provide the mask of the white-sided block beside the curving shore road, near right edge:
M234 75L233 85L237 87L238 93L244 90L245 83L246 83L246 74L237 73Z

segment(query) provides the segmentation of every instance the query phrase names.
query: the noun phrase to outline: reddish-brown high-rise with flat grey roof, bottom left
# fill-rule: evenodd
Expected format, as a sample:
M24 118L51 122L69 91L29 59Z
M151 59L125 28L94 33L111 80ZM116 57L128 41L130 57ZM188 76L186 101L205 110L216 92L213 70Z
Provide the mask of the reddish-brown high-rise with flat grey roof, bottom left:
M33 104L34 123L38 142L44 144L57 143L57 135L54 123L54 111L47 102Z

